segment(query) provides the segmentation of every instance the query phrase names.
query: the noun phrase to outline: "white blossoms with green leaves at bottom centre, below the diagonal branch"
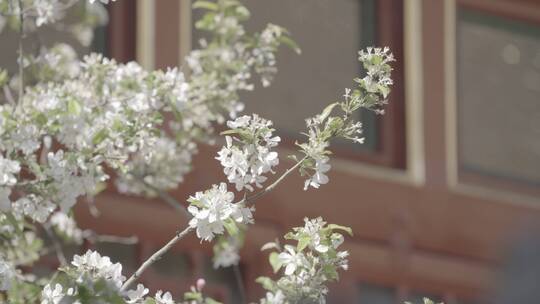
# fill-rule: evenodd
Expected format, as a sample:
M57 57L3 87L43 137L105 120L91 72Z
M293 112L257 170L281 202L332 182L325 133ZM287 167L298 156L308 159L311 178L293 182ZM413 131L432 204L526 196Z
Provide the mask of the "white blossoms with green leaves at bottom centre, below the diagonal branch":
M261 277L257 281L268 290L263 304L325 303L326 284L338 279L338 270L347 269L347 251L339 251L343 243L340 231L351 234L350 228L326 224L321 218L305 219L304 227L293 228L285 235L296 245L269 243L263 249L278 249L270 254L275 272L284 268L284 276L274 281Z

